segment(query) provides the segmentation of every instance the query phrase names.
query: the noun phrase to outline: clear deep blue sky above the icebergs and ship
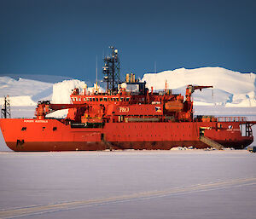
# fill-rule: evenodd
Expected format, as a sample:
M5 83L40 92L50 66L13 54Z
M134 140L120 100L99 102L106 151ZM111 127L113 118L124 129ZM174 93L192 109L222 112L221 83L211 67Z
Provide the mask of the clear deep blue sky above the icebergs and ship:
M109 45L123 75L154 72L154 62L157 72L256 72L256 1L0 0L2 75L95 80Z

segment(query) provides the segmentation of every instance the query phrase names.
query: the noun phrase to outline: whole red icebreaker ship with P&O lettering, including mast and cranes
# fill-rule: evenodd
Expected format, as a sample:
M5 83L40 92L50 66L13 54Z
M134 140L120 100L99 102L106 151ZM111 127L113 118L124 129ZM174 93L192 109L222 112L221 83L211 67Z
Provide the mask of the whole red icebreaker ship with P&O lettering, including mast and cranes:
M172 147L243 148L253 142L244 117L193 115L191 95L212 86L188 85L186 95L148 90L134 74L119 81L117 49L104 58L106 92L73 89L71 104L38 102L36 118L1 118L7 146L14 151L163 149ZM68 109L67 118L46 118Z

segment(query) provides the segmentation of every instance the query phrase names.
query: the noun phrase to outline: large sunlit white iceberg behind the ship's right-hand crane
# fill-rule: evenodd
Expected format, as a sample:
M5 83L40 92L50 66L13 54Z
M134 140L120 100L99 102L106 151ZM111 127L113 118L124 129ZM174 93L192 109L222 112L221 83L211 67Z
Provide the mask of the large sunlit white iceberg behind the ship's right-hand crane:
M148 89L172 89L185 94L188 84L212 85L213 89L196 90L195 106L256 107L256 74L234 72L223 67L179 68L173 71L146 73L142 81Z

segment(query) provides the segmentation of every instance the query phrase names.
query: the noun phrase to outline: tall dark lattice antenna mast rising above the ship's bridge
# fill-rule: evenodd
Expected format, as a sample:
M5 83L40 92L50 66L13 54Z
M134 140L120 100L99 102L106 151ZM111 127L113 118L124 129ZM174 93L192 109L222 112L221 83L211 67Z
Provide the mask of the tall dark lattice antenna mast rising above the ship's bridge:
M107 82L107 92L108 94L113 94L117 92L118 84L120 82L119 78L119 56L118 49L113 46L109 47L112 49L111 55L103 58L105 65L103 66L104 81Z

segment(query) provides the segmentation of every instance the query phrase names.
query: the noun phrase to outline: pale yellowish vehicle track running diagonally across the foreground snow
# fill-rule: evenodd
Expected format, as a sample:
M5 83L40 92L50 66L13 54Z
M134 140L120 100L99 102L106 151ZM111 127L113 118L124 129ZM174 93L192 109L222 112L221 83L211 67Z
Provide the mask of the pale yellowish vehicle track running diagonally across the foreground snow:
M210 182L206 184L196 184L187 187L173 187L162 191L148 191L144 193L132 193L127 195L113 196L102 199L89 199L81 201L72 201L65 203L56 203L49 205L31 205L20 208L0 210L0 218L8 219L21 216L32 216L44 213L55 212L59 210L73 210L81 207L90 207L96 205L108 205L122 203L125 201L137 200L137 199L153 199L158 197L164 197L174 195L178 193L194 193L201 191L209 191L212 189L221 189L223 187L234 187L241 185L254 185L256 183L256 177L234 179L224 182Z

